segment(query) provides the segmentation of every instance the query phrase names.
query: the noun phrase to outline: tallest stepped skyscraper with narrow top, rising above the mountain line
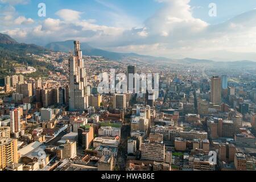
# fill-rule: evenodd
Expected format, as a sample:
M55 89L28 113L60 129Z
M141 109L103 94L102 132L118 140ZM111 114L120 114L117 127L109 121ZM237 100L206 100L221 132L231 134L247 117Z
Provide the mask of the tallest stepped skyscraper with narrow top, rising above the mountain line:
M69 59L69 110L83 111L88 107L86 71L80 42L75 41L75 55Z

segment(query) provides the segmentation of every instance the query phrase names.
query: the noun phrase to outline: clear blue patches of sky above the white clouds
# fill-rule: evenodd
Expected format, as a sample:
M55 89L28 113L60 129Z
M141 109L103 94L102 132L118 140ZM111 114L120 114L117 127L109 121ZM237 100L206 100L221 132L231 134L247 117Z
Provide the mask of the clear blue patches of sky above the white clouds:
M1 1L0 1L1 2ZM123 10L124 13L129 14L137 18L139 23L147 18L150 18L156 10L158 10L163 5L158 3L155 0L33 0L26 5L17 5L16 10L25 16L40 19L37 16L38 12L38 3L44 2L47 5L47 16L51 18L56 18L56 11L60 9L72 9L76 11L84 12L82 15L85 19L97 19L97 22L100 24L109 24L111 25L109 18L104 16L106 12L112 11L109 7L103 5L112 4L118 9ZM103 3L99 3L103 2ZM218 16L209 17L208 16L208 5L209 3L216 3ZM193 15L196 18L203 19L209 23L221 23L229 18L249 11L256 8L256 1L254 0L192 0L189 2L189 5L195 7L193 9ZM41 18L42 19L42 18Z

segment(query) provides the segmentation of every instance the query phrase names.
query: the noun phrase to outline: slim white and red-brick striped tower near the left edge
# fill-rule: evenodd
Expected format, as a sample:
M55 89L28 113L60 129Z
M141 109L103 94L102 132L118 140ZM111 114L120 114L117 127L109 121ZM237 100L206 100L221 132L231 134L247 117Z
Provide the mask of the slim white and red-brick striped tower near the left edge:
M10 127L11 136L14 138L19 138L20 134L20 111L19 109L13 109L10 111Z

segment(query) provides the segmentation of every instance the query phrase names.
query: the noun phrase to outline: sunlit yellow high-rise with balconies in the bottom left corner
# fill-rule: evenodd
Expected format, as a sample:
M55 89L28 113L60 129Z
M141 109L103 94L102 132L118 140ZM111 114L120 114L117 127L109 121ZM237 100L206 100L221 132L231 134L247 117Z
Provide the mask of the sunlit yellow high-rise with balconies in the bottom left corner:
M17 140L0 138L0 171L12 163L18 163Z

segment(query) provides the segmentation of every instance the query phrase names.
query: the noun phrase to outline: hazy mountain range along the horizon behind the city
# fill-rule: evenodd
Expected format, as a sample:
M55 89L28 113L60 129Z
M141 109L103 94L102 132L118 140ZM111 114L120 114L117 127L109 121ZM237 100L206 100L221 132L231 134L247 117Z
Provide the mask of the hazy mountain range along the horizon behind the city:
M47 44L45 47L37 46L35 44L25 44L18 43L16 40L11 38L9 35L0 34L0 54L1 51L9 50L14 54L21 53L46 53L49 51L63 51L63 52L72 52L73 51L73 42L75 40L66 40L64 42L52 42ZM212 60L200 60L200 59L168 59L166 57L154 57L139 55L137 53L118 53L105 51L103 49L98 49L90 46L88 43L81 43L81 49L83 55L88 56L102 56L110 60L130 60L130 61L141 61L147 64L153 63L162 63L162 64L202 64L208 66L220 66L220 67L256 67L256 62L242 60L242 61L212 61ZM1 58L1 55L0 55Z

